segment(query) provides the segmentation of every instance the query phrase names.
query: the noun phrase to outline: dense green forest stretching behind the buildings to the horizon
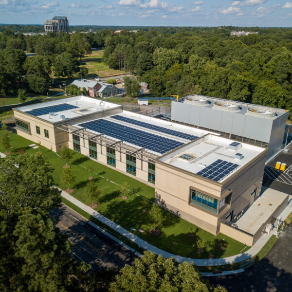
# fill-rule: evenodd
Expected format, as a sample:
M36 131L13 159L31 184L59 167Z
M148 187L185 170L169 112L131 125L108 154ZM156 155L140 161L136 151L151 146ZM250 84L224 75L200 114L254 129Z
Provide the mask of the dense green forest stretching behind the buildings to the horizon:
M292 110L292 29L250 28L258 34L231 37L233 29L157 27L137 33L104 29L16 36L6 28L0 33L0 80L8 82L1 82L0 89L15 91L24 76L33 91L44 92L49 73L74 76L80 71L78 59L95 47L105 49L103 61L110 68L147 82L152 96L197 93ZM37 53L31 58L36 62L28 61L24 51Z

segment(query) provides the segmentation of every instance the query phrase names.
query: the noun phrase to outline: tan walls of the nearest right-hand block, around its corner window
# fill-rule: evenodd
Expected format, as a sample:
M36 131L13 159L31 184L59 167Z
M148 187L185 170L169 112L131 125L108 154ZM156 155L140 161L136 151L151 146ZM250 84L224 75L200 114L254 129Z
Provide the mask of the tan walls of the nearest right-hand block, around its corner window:
M230 220L231 212L233 212L233 219L238 219L259 196L266 152L267 150L263 151L223 183L204 179L157 159L155 201L204 230L217 235L220 232L220 224ZM216 214L192 203L191 190L217 199L218 206L219 202L225 201L227 196L229 198L231 196L231 201L225 202L221 209L218 207L219 211ZM256 192L253 193L255 190Z

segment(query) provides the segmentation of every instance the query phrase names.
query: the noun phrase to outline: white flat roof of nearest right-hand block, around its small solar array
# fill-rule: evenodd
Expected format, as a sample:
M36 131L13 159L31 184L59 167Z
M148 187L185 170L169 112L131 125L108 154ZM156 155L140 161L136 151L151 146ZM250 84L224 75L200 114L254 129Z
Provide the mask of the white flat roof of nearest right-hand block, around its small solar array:
M218 160L228 162L234 165L237 164L237 166L235 166L233 170L228 171L227 175L217 180L217 182L222 183L228 177L233 175L238 169L253 160L258 154L265 151L265 148L241 142L238 142L241 146L238 150L231 150L229 149L229 145L232 142L235 141L219 137L214 134L208 134L199 140L196 140L186 146L172 151L169 154L164 155L164 157L161 157L159 161L182 168L194 174L198 174L209 165L216 163ZM242 154L241 160L236 159L235 155L237 153ZM188 161L180 158L180 156L182 156L183 154L189 155L187 157L190 157L191 159ZM214 169L210 170L210 172L212 171L213 173L215 173ZM223 172L222 169L218 171L220 173Z

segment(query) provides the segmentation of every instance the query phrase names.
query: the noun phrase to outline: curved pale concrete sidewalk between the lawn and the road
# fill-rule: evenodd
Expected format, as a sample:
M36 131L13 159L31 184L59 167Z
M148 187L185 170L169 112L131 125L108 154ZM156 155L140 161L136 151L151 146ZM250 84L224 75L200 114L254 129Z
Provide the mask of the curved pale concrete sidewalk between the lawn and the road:
M61 196L65 198L66 200L72 202L74 205L78 206L80 209L83 211L87 212L90 214L92 217L98 219L99 221L105 223L108 225L110 228L115 230L116 232L120 233L124 237L127 237L131 241L135 242L137 245L141 246L142 248L152 251L156 255L162 255L164 257L174 257L174 259L177 262L193 262L197 266L217 266L217 265L225 265L225 264L232 264L232 263L237 263L246 259L249 259L253 256L256 256L256 254L262 249L262 247L266 244L266 242L272 237L274 234L274 231L271 232L269 235L265 234L262 237L260 237L254 246L252 246L247 252L244 252L242 254L236 255L236 256L229 256L229 257L224 257L224 258L211 258L211 259L196 259L196 258L189 258L189 257L184 257L184 256L177 256L173 255L171 253L165 252L164 250L157 248L150 243L146 242L142 238L132 234L122 226L114 223L110 219L104 217L100 213L94 211L91 207L85 205L81 201L78 201L75 199L73 196L69 195L68 193L62 191ZM285 208L285 210L281 213L281 218L282 220L286 219L287 216L292 212L292 199L290 196L290 201L288 206Z

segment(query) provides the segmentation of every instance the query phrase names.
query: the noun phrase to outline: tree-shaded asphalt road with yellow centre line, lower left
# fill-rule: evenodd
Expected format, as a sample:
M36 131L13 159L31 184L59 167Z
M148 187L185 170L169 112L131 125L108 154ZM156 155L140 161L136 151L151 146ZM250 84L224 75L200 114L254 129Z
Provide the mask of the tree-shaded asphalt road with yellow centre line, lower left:
M111 238L100 233L88 224L88 220L62 206L50 211L56 226L68 235L69 241L74 243L72 253L79 260L91 264L92 269L117 268L131 264L134 257L129 258L129 250Z

